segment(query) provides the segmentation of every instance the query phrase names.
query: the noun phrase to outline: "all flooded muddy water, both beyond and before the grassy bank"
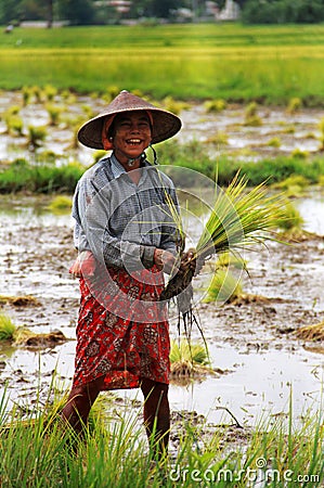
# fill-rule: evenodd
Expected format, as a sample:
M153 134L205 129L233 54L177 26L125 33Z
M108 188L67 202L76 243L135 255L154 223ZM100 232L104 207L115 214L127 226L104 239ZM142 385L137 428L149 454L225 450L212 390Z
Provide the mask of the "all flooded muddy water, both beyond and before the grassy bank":
M21 104L20 93L0 94L2 106ZM59 101L60 103L62 101ZM61 124L49 129L42 150L54 151L62 159L92 162L92 151L78 147L68 151L73 141L72 116L83 113L85 105L101 112L104 102L90 97L78 104L65 105ZM83 107L83 108L82 108ZM83 112L82 112L83 111ZM26 124L48 125L43 105L31 103L22 108ZM288 114L284 108L260 108L262 124L244 124L244 108L228 107L220 114L207 114L203 106L192 106L181 114L181 141L205 141L215 133L226 133L221 152L258 159L264 155L289 154L298 149L319 151L319 121L323 112L309 110ZM86 117L88 118L88 117ZM294 130L289 128L294 126ZM8 134L0 121L0 160L8 164L18 156L28 156L25 139ZM270 144L273 138L280 144ZM244 153L245 151L245 153ZM27 156L26 156L27 155ZM0 198L0 279L1 295L33 296L31 304L1 303L16 325L37 333L62 331L68 341L48 348L14 348L0 346L1 393L8 388L10 401L30 406L47 397L53 372L62 389L68 388L74 369L75 328L79 291L78 282L68 274L75 258L73 222L69 215L53 215L47 208L50 197L2 196ZM304 230L314 235L294 245L271 243L246 254L249 275L243 275L244 293L261 299L239 304L205 304L212 273L210 264L195 279L196 314L204 329L215 374L186 386L171 384L173 412L196 411L210 423L218 423L228 408L241 424L252 425L257 419L285 415L293 398L297 420L321 407L324 373L324 346L304 343L296 337L303 325L324 320L324 193L312 189L295 200L304 219ZM198 230L191 223L191 244ZM171 317L171 335L177 337L177 319ZM193 331L193 339L198 331ZM119 394L118 394L119 395ZM142 401L139 391L124 391L121 403ZM139 402L139 403L140 403Z

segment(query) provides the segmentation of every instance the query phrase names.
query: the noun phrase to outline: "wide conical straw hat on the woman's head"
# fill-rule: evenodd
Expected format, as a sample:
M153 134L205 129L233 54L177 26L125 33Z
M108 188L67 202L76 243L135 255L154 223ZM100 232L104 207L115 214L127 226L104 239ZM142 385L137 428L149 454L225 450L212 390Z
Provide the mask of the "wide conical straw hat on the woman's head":
M171 112L158 108L127 90L122 90L107 106L105 112L91 118L78 131L78 140L92 149L104 149L102 143L103 123L106 117L111 123L117 114L130 111L146 111L152 119L152 144L174 136L181 128L180 118Z

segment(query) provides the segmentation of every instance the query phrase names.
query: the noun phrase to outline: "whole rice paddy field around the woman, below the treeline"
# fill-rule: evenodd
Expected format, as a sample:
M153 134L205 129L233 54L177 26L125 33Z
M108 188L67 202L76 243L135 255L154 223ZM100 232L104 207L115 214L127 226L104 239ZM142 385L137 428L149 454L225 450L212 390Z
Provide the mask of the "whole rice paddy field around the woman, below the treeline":
M1 487L323 486L323 56L322 25L0 36ZM182 358L171 377L170 457L160 464L137 390L100 396L78 455L57 419L79 306L68 273L72 193L102 156L76 143L76 129L125 88L183 120L157 152L177 180L189 245L206 221L216 172L223 185L238 169L250 184L269 178L290 213L280 242L244 254L248 274L223 256L194 280L210 363L187 376ZM225 290L231 280L221 282L229 300L211 286L217 268L233 273L235 295ZM177 321L171 308L176 342ZM200 344L197 329L192 339Z

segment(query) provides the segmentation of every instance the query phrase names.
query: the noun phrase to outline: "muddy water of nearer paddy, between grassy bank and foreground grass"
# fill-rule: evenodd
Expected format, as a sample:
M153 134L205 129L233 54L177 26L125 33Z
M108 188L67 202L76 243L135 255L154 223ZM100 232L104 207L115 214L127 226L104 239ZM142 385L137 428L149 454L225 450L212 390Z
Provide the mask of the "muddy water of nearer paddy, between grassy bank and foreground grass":
M1 390L8 383L11 401L23 406L36 400L38 388L46 398L54 370L66 388L73 374L79 294L67 271L75 256L72 221L68 215L49 213L47 204L31 197L2 197L0 206L1 294L33 295L39 300L37 306L7 304L3 311L35 332L60 329L70 338L52 349L1 346ZM216 372L186 386L171 384L173 411L195 410L209 422L225 418L231 423L219 409L226 407L239 423L254 424L259 418L286 414L290 391L295 419L307 409L320 409L323 349L321 344L297 341L295 331L324 320L324 195L312 191L297 205L306 229L317 236L294 246L271 244L245 256L250 275L242 277L244 292L267 300L223 306L197 301ZM207 267L196 279L196 296L204 295L210 275ZM177 336L176 320L171 335ZM198 337L194 329L193 338ZM120 397L141 399L137 390Z

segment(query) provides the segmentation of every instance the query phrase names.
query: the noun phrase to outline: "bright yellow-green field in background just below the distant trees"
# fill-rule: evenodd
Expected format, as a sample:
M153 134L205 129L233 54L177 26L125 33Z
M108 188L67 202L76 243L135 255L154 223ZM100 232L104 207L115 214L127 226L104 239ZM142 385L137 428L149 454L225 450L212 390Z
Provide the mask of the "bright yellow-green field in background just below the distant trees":
M16 28L0 38L0 88L324 105L323 57L324 25Z

